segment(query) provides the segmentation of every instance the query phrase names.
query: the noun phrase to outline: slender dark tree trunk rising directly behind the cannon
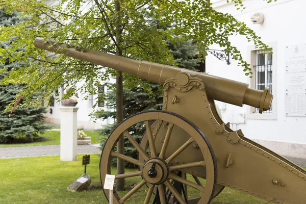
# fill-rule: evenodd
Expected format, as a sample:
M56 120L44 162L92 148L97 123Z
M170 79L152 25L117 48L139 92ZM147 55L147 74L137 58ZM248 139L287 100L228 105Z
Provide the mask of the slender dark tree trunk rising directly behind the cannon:
M118 15L120 12L120 2L115 2L115 13ZM122 50L120 49L121 44L121 22L119 15L116 19L116 42L117 49L116 55L122 56ZM122 72L116 71L116 120L119 124L123 120L123 84L122 84ZM124 155L124 141L121 135L117 143L117 152ZM117 158L117 174L124 173L124 160ZM118 179L116 181L116 191L124 190L124 179Z

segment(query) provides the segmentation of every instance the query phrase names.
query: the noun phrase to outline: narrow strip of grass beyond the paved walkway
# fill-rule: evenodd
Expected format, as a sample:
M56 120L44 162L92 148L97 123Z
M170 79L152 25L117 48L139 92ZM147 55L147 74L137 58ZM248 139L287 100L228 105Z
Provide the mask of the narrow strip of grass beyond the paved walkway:
M91 137L91 143L99 143L100 136L97 132L94 131L84 131L85 134ZM56 145L60 144L60 131L46 131L44 134L40 135L41 137L46 137L39 142L30 142L30 143L13 143L13 144L0 144L0 147L17 147L17 146L39 146L39 145Z

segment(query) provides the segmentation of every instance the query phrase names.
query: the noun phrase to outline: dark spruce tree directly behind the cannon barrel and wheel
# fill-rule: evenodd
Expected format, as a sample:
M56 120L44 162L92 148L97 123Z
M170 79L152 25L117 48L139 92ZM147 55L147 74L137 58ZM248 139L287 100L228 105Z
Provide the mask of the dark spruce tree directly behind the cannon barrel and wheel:
M175 44L174 42L168 40L167 45L170 49L171 54L176 62L176 65L181 68L195 70L195 67L198 66L200 61L197 59L198 50L196 46L192 43L191 40L186 42ZM125 88L123 93L123 117L127 118L134 114L149 111L149 110L161 110L163 103L163 94L162 94L162 85L151 84L151 93L145 92L140 87L133 89ZM107 119L112 118L116 119L116 94L115 90L112 88L106 94L107 107L113 111L104 111L102 113L97 113L97 118ZM100 129L99 132L102 135L109 136L116 124L109 124L104 126L103 129ZM133 132L134 139L139 142L142 138L145 129L143 126L134 125L129 129ZM103 147L106 140L101 140L101 147ZM124 138L124 148L125 155L137 159L138 152L134 146ZM115 165L116 160L112 160L112 163ZM132 168L135 167L131 163L125 162L125 167Z

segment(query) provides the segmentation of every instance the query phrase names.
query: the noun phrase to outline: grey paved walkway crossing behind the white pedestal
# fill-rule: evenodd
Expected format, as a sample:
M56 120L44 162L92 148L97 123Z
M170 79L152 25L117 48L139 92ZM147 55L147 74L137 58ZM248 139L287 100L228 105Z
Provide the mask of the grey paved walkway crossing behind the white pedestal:
M99 144L78 145L78 155L101 153ZM60 155L60 145L2 147L0 159Z

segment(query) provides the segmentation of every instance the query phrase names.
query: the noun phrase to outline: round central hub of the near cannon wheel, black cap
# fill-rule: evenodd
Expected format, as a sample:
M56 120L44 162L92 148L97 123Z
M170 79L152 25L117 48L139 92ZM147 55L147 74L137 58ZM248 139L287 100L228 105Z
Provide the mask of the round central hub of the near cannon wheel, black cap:
M143 166L142 176L150 184L161 184L166 181L168 175L168 165L162 159L150 159Z

